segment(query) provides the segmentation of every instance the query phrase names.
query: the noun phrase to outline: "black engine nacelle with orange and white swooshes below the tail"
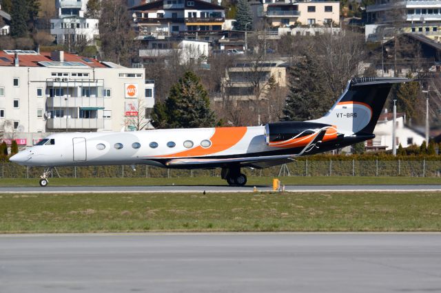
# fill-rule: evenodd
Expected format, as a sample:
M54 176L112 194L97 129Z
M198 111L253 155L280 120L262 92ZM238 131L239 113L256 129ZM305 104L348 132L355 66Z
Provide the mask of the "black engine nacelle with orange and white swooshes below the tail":
M329 124L287 121L265 125L265 142L269 146L306 146L322 129L327 129L322 141L337 138L337 129Z

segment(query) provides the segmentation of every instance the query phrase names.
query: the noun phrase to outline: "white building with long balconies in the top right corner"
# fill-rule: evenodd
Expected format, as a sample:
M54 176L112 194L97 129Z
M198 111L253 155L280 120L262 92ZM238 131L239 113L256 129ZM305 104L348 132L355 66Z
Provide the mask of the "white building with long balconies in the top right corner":
M367 6L365 36L369 41L380 41L393 36L393 23L400 22L401 32L424 34L434 41L441 41L441 1L376 0Z

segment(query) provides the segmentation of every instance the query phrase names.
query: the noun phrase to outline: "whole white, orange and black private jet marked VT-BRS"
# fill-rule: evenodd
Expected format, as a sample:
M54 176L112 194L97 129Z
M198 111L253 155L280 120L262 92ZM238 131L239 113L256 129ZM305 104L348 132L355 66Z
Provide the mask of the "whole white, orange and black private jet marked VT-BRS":
M170 169L221 168L229 185L243 186L240 169L263 169L371 140L393 84L407 78L353 78L325 116L257 127L157 129L128 132L56 133L10 158L45 167L40 185L56 166L148 164Z

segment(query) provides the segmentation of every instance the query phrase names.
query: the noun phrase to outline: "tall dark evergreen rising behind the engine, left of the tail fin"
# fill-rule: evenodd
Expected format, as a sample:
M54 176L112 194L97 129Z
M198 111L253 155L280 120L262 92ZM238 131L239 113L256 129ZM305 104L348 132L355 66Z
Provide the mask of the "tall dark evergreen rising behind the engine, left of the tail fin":
M283 120L303 121L323 116L331 105L332 94L322 81L322 74L314 59L306 56L289 68L289 93L283 109Z

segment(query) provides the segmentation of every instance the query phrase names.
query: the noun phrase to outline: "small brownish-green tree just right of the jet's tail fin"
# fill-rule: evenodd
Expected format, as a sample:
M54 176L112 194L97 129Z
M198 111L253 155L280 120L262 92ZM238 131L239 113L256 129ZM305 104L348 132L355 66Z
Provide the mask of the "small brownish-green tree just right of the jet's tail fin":
M407 75L408 78L412 76ZM418 103L418 93L420 92L420 84L418 81L410 83L401 83L397 91L397 111L405 112L407 118L418 120L420 113L416 111Z

